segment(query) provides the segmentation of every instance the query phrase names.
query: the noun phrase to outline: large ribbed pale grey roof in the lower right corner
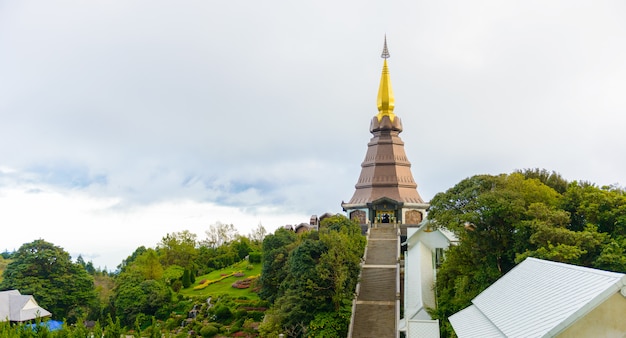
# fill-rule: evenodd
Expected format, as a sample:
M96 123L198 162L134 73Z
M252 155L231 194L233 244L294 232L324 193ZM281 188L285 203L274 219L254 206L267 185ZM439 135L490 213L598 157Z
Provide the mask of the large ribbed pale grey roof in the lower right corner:
M622 273L527 258L449 320L459 338L553 336L625 285Z

